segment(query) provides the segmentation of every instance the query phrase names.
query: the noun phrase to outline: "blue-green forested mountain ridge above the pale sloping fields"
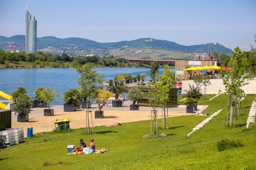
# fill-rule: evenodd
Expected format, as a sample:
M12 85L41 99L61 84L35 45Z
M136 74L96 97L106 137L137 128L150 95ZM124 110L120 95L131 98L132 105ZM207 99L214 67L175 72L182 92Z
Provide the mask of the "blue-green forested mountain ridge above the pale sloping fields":
M9 42L9 43L7 43ZM13 44L11 42L14 42ZM5 37L0 35L0 49L4 49L3 46L14 45L15 43L25 43L25 35L14 35L12 37ZM17 46L17 45L16 45ZM120 49L125 47L130 48L147 48L157 49L165 51L177 51L181 53L206 53L216 51L219 55L222 53L230 55L232 50L220 45L219 43L207 43L200 45L180 45L178 43L159 40L154 38L140 38L131 41L118 41L118 42L107 42L100 43L90 39L84 39L79 37L68 37L68 38L57 38L54 36L37 37L37 49L45 49L52 47L55 50L64 50L65 53L75 53L74 51L89 51L89 49ZM66 50L69 49L69 50ZM210 50L210 51L209 51ZM134 53L132 51L131 53Z

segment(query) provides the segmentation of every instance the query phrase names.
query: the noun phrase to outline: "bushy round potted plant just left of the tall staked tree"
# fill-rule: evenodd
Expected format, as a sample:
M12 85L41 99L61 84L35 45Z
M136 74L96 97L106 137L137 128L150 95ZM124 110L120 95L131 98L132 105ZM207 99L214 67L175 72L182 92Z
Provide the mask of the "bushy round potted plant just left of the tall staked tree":
M78 89L72 88L64 92L64 111L76 111L76 104L80 103L81 93Z

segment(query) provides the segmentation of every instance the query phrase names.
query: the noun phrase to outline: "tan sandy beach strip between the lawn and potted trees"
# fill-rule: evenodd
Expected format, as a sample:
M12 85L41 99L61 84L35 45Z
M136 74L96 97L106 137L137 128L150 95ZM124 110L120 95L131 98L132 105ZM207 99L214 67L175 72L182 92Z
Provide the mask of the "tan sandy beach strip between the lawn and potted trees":
M97 105L92 105L92 121L93 126L109 125L111 123L127 123L134 121L150 120L152 107L140 106L139 111L130 111L130 104L132 102L124 102L123 107L112 107L112 104L102 108L104 111L103 119L95 119L94 111L98 110ZM196 115L202 112L207 106L198 106L199 111L196 113L186 113L186 106L179 106L168 108L168 117L182 116L182 115ZM70 120L70 129L84 128L86 126L86 109L79 109L77 111L66 112L63 111L63 106L52 106L54 109L53 116L43 116L46 108L33 108L29 121L25 123L17 122L17 115L12 112L12 128L23 127L24 136L26 137L27 127L33 127L33 134L50 132L55 129L54 121L68 119ZM157 108L158 119L162 117L162 108Z

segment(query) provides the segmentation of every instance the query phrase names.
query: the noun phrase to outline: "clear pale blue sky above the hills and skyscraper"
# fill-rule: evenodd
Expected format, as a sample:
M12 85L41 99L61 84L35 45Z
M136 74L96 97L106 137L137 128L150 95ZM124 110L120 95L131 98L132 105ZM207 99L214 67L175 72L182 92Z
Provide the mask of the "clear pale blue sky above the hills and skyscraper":
M256 46L256 0L0 0L0 35L25 35L26 4L37 37Z

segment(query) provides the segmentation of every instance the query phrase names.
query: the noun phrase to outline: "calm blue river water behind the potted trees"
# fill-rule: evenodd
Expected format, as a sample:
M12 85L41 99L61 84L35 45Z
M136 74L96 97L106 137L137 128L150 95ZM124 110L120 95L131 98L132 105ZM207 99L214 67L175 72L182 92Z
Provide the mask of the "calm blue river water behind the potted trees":
M150 68L93 68L105 76L105 81L114 79L117 74L132 74L137 76L146 73L145 81L149 81ZM174 68L172 68L174 72ZM159 74L163 69L159 70ZM57 102L50 105L61 105L64 92L70 88L78 87L79 78L74 68L4 68L0 69L0 91L11 94L19 86L27 88L28 95L35 97L34 90L39 87L56 88L60 92ZM0 98L0 100L3 100Z

